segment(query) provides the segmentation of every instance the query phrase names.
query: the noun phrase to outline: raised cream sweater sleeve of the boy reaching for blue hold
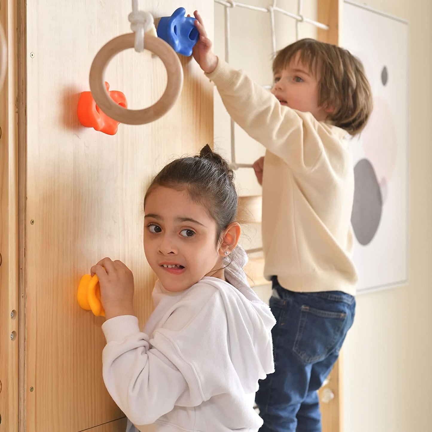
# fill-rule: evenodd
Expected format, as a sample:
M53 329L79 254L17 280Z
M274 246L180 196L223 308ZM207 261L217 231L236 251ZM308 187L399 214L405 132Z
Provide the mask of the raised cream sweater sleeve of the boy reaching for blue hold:
M242 70L234 70L219 58L206 76L213 81L232 119L292 169L314 167L323 152L322 138L329 129L311 113L296 111L280 102Z

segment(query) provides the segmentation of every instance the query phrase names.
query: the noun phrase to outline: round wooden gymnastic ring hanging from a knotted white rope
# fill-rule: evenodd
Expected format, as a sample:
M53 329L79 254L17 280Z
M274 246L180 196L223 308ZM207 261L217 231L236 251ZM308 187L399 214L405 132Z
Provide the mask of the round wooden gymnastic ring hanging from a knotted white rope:
M105 88L105 69L109 61L121 51L133 48L135 34L127 33L111 39L96 54L90 68L90 91L98 107L108 117L125 124L145 124L157 120L175 104L183 85L183 69L175 51L161 38L145 35L145 48L156 54L165 65L167 84L162 97L154 105L131 110L116 104Z

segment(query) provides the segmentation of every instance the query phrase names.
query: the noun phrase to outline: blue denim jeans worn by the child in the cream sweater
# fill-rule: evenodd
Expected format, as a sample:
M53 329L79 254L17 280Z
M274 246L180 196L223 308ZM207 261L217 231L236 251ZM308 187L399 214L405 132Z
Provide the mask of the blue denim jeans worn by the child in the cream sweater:
M275 372L260 381L260 432L321 432L318 389L354 321L356 300L340 291L293 292L273 276Z

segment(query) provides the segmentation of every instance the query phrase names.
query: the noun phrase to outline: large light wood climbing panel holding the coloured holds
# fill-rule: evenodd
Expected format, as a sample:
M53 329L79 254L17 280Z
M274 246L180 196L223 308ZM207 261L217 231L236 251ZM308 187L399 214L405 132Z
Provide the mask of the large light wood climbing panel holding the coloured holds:
M200 9L212 35L213 1L140 1L154 16L178 6ZM114 0L27 3L27 337L20 400L28 432L82 431L122 416L102 381L103 318L79 308L79 279L102 257L123 260L134 273L144 324L155 280L142 245L146 185L168 160L213 141L213 86L184 57L181 96L158 121L120 124L115 136L79 125L76 105L79 92L89 90L93 57L130 32L130 7ZM133 50L114 57L106 80L132 109L152 105L166 84L162 62Z

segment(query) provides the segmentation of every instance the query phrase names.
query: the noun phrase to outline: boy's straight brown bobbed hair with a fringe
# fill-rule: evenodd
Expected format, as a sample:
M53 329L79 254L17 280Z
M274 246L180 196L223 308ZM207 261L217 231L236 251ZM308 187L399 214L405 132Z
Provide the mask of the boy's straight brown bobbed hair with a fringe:
M299 53L299 60L321 78L318 103L333 108L331 124L351 135L359 133L372 112L372 90L362 62L349 51L314 39L301 39L279 51L273 60L273 74L288 67Z

